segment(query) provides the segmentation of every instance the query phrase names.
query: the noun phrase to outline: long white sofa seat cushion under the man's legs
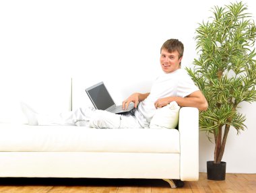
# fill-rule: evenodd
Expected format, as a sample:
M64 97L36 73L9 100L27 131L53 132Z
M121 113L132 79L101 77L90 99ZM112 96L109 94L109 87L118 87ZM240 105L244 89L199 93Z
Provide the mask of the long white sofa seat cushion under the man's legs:
M179 153L179 130L0 124L0 151Z

